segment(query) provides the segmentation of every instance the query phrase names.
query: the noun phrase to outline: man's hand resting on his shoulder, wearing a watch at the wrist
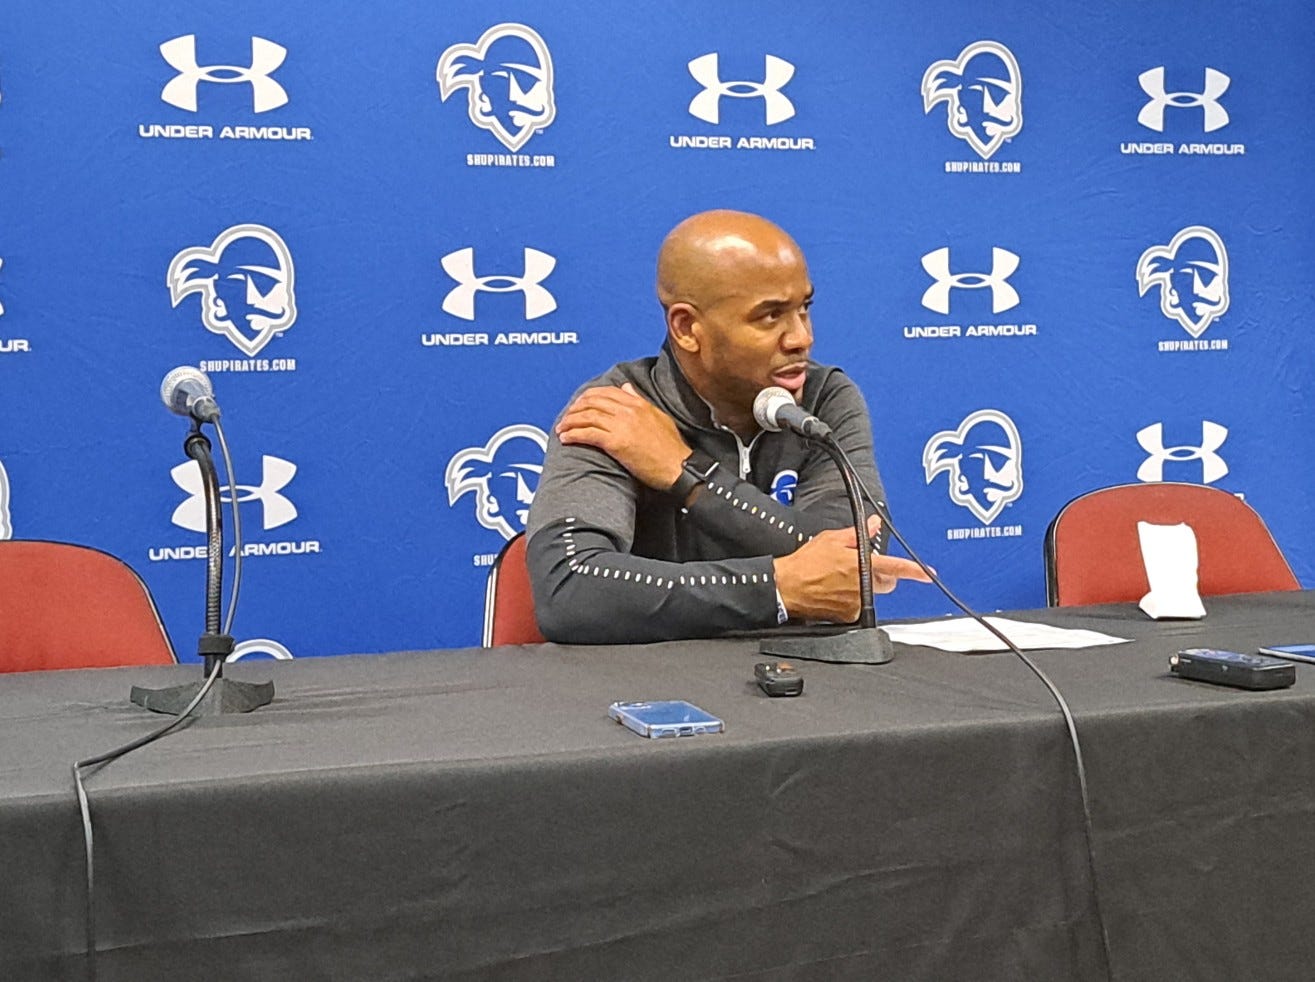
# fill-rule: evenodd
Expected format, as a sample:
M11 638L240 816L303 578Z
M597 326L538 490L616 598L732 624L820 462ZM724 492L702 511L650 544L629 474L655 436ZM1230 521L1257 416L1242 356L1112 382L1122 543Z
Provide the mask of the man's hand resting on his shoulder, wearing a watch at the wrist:
M585 389L567 408L556 433L565 444L597 447L654 490L676 482L690 452L672 418L630 383Z

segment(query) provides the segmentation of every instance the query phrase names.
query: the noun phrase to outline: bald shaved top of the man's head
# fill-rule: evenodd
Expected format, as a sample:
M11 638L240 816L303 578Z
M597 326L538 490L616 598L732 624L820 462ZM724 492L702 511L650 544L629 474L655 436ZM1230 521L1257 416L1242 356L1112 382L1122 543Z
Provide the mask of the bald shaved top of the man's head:
M802 267L785 230L748 212L700 212L668 233L658 252L658 300L706 308L768 269Z

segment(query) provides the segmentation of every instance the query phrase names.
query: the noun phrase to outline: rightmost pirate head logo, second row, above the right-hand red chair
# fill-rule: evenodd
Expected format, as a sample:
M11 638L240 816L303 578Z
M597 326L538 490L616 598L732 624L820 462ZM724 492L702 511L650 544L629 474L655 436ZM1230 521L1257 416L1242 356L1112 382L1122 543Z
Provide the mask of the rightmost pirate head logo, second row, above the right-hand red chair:
M1160 313L1193 338L1228 309L1228 251L1214 229L1190 225L1137 260L1137 294L1160 288Z

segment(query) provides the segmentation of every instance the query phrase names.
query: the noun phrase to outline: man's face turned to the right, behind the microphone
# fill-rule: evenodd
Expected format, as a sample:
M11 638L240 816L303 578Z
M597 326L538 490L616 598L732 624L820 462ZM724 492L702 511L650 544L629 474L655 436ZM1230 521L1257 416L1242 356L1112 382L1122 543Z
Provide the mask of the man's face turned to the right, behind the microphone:
M736 268L725 294L696 312L700 394L722 413L750 411L769 385L798 401L813 348L811 305L807 266L793 247Z

